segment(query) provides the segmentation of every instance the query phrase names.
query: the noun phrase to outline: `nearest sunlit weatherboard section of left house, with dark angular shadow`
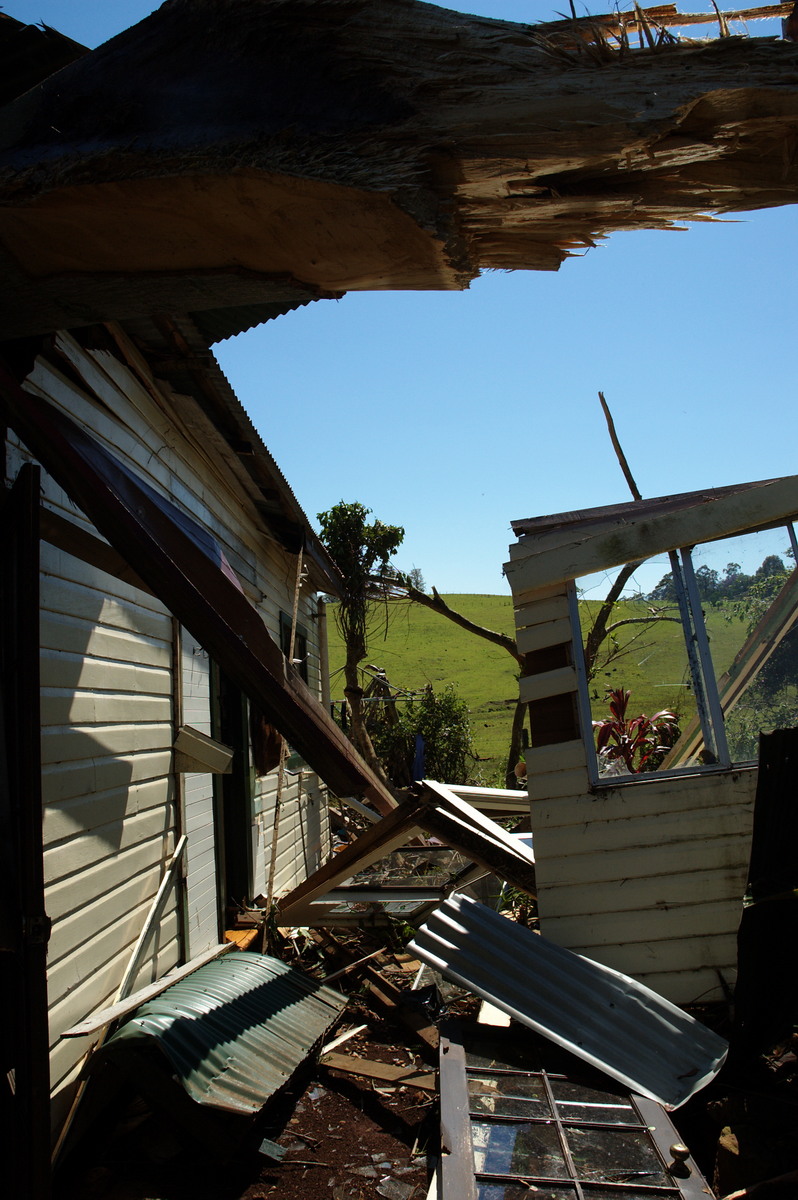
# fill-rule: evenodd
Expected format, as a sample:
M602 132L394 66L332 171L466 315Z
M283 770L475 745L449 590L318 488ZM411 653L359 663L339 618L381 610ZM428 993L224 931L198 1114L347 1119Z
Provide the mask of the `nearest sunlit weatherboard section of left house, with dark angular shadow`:
M41 683L58 1096L89 1044L60 1033L114 998L174 848L169 614L154 596L42 545ZM178 932L173 898L137 985L179 960Z

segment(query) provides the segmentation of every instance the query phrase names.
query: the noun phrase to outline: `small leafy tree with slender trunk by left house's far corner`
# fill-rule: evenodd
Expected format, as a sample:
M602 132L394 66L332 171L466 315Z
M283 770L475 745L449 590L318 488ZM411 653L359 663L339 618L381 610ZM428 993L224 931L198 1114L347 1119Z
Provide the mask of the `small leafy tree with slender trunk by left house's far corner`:
M368 523L371 509L362 504L338 504L319 512L322 541L330 551L341 575L343 589L335 607L335 619L346 649L343 665L344 696L352 719L352 740L366 762L385 778L362 719L360 664L367 653L368 605L384 594L383 576L389 574L389 559L401 546L401 526Z

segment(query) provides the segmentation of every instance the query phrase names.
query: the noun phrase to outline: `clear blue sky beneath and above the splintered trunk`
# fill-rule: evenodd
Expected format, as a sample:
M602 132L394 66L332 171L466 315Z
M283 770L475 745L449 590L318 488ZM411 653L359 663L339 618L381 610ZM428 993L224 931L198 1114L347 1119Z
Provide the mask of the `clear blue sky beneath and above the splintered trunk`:
M155 7L8 0L4 11L94 47ZM542 20L566 5L449 7ZM397 563L427 586L503 593L511 520L629 498L599 389L644 496L798 472L794 229L796 209L782 208L618 234L558 272L320 301L216 353L311 518L361 500L404 526ZM730 557L743 552L721 552L720 565ZM666 569L654 564L642 586Z

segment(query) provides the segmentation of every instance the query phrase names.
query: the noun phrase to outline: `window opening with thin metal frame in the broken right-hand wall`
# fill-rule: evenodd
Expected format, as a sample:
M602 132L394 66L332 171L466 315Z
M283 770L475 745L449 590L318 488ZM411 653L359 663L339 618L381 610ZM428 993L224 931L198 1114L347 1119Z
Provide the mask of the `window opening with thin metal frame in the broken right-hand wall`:
M793 544L786 527L648 560L608 612L614 572L580 581L600 779L755 761L760 732L798 722Z

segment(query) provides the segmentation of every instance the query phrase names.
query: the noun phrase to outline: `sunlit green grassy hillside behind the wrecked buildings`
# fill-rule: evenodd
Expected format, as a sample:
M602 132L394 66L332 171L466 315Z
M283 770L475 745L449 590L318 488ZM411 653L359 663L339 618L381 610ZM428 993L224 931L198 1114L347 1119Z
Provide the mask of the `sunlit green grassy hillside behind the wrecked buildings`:
M446 595L444 599L476 624L515 636L510 596ZM596 607L595 601L581 601L584 628ZM643 600L622 600L616 606L613 620L646 616L648 607ZM343 698L343 647L335 623L335 605L330 606L329 614L331 690L332 698L340 701ZM727 622L722 610L707 607L706 616L713 661L720 673L742 646L744 626L739 620ZM619 630L622 641L640 628L631 625ZM428 608L394 600L376 606L372 613L368 662L383 667L391 684L398 688L416 689L431 683L439 689L452 683L472 713L480 760L476 769L484 782L503 784L518 692L516 664L509 654ZM637 635L626 653L592 682L594 716L606 712L601 701L607 688L628 688L631 691L630 715L647 713L650 716L671 708L685 724L695 712L686 682L682 628L670 622L658 623Z

